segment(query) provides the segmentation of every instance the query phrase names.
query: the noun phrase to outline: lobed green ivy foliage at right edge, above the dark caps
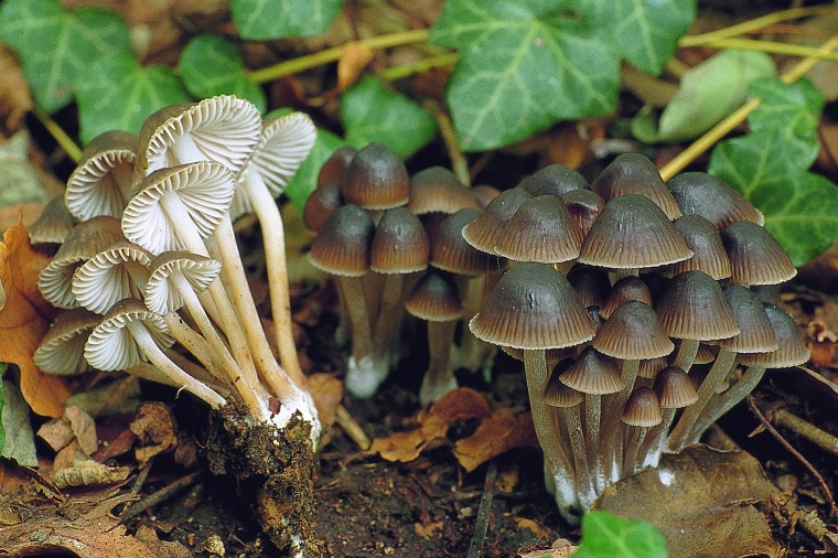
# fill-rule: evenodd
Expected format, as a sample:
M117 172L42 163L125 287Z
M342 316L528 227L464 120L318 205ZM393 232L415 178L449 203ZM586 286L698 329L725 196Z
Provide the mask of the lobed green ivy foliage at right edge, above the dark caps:
M838 240L838 185L807 172L818 151L823 97L808 82L754 84L754 131L720 142L709 172L735 187L765 215L765 228L802 266ZM795 108L796 107L796 108Z

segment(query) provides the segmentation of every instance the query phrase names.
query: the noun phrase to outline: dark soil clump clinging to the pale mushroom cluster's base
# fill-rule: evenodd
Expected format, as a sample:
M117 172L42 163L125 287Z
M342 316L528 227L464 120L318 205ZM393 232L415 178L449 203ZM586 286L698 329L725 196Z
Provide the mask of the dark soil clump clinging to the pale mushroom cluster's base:
M238 492L256 495L262 529L291 556L323 556L315 535L314 453L311 425L293 417L283 429L254 425L238 405L218 409L206 455L213 474L232 474Z

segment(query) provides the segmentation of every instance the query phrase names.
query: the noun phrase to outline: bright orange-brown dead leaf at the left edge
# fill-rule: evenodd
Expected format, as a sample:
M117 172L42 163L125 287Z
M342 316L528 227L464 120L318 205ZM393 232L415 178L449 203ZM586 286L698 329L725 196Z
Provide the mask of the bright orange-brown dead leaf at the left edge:
M57 418L64 414L69 388L64 379L42 373L32 361L54 314L36 285L37 273L49 260L32 249L22 225L3 234L0 281L6 290L6 305L0 310L0 362L20 367L21 393L34 412Z

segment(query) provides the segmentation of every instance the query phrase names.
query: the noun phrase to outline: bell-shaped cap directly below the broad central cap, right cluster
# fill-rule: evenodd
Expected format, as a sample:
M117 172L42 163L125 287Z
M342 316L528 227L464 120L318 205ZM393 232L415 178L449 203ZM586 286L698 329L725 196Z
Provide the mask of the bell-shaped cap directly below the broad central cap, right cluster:
M655 310L670 337L713 341L739 334L721 287L703 271L673 278Z

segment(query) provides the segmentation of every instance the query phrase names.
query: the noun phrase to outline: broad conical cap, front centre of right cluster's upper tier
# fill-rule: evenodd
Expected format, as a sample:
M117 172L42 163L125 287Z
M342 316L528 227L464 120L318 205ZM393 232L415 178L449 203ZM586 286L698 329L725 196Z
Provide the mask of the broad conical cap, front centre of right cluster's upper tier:
M582 243L579 261L635 269L691 256L684 238L657 205L640 194L626 194L605 204Z

